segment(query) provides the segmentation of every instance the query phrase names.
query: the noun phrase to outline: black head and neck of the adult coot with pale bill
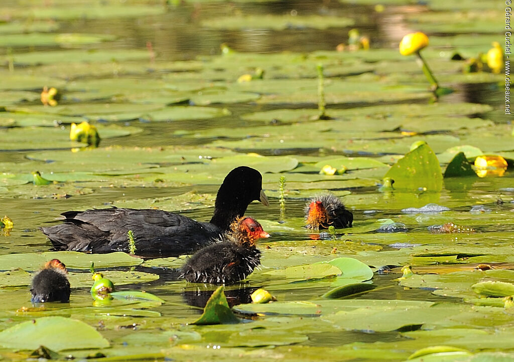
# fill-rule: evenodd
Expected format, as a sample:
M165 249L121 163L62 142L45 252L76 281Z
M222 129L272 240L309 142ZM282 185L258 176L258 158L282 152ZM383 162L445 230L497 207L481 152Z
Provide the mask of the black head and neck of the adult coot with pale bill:
M248 166L234 168L219 187L211 223L228 231L232 221L243 216L254 200L269 205L262 189L261 173Z

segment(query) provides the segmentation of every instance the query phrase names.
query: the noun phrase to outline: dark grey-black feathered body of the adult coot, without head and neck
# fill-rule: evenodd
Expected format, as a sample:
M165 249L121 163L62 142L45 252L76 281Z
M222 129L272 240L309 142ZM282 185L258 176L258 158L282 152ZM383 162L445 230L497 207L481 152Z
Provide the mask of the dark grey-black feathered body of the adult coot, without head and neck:
M199 249L221 233L211 223L154 209L108 208L63 215L63 224L41 229L58 250L128 252L127 232L132 230L137 255L177 256Z

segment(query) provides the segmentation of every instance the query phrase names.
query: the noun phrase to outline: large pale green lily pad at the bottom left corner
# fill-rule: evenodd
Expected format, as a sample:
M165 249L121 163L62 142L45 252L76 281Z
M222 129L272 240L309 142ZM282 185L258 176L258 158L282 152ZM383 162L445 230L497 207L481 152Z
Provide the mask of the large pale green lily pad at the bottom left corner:
M55 351L106 348L107 339L80 320L64 317L42 317L28 320L0 332L0 345L5 348L34 350L46 346Z

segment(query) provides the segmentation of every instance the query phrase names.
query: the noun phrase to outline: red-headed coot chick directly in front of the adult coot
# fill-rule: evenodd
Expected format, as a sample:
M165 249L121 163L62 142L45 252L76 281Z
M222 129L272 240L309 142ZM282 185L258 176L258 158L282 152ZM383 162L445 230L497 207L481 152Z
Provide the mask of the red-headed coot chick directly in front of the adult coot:
M193 254L182 267L182 277L196 283L233 284L250 275L261 263L255 241L269 234L251 217L234 221L232 230Z

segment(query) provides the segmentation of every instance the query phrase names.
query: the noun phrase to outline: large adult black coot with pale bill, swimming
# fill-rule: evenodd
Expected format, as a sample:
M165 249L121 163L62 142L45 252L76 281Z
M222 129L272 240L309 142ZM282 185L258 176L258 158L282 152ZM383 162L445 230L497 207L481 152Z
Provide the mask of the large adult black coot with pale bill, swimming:
M253 200L266 206L262 175L247 166L234 168L219 187L210 222L156 209L108 208L68 211L62 224L42 227L56 250L90 253L128 252L132 230L136 254L168 257L190 253L227 232Z

